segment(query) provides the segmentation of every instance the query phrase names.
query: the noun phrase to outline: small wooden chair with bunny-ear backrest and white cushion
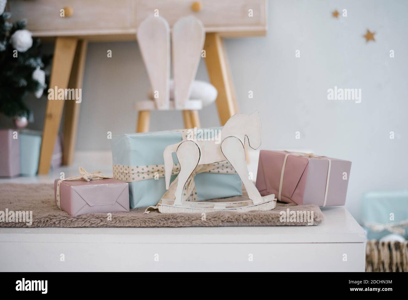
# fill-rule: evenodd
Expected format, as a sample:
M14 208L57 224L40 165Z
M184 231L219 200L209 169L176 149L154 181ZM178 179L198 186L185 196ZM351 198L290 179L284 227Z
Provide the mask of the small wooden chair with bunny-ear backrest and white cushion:
M137 41L151 90L148 100L135 101L139 111L137 132L149 131L152 110L183 110L186 128L200 127L197 110L217 98L212 84L194 80L204 40L204 26L193 16L180 18L171 34L169 23L162 17L151 16L140 24ZM170 79L171 53L173 79ZM192 120L187 122L186 117Z

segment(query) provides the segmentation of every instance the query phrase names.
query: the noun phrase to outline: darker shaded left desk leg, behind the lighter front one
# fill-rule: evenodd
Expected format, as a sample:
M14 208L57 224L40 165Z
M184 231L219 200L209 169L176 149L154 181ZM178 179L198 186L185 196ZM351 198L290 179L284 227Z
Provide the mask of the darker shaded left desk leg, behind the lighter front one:
M85 58L88 41L80 40L75 51L75 57L71 70L71 77L69 77L69 88L81 88L82 80L84 78ZM81 99L82 101L82 99ZM62 163L64 165L71 165L73 154L75 152L75 142L78 129L80 102L69 100L65 102L64 111L64 155Z

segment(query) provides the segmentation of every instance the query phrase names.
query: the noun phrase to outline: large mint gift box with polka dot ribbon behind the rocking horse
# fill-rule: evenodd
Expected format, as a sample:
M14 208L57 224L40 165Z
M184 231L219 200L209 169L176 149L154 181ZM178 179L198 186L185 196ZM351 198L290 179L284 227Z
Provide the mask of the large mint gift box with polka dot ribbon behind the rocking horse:
M217 129L210 130L215 132ZM186 137L186 130L132 133L112 137L113 177L129 183L130 208L154 206L160 201L166 192L164 148L182 141L182 136ZM171 181L177 176L180 167L175 153L173 161L175 165ZM212 172L195 175L196 192L191 195L191 201L242 195L241 179L228 162L219 163L214 169Z

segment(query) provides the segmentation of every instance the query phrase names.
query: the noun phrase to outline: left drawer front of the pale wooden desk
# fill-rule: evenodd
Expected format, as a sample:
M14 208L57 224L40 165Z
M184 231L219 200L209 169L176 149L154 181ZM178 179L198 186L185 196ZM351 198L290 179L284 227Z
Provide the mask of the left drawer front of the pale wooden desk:
M13 0L13 21L26 18L31 31L130 29L134 0ZM72 7L73 15L61 17L60 9Z

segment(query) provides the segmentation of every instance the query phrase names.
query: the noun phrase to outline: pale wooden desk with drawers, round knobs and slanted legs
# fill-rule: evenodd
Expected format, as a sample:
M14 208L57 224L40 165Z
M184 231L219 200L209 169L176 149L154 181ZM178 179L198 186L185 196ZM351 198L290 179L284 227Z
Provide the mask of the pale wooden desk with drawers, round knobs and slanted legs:
M266 0L13 0L7 4L12 21L27 18L27 29L34 37L55 38L50 87L63 89L82 88L89 41L135 40L138 24L155 13L170 26L182 16L195 15L206 29L205 61L218 90L216 105L222 125L238 111L222 38L265 35L267 27ZM79 104L48 100L39 174L49 172L64 102L63 163L72 162Z

